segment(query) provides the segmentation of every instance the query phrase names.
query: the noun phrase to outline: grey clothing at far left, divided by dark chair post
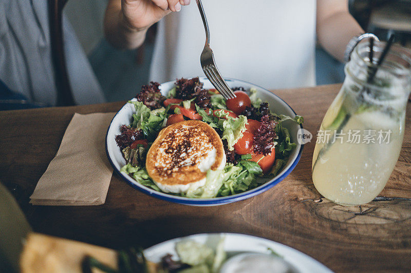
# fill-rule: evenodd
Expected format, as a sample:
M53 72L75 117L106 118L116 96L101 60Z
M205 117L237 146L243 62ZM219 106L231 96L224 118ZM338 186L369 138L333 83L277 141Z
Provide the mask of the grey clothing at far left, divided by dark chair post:
M63 43L74 102L104 102L99 82L68 20ZM0 110L10 101L30 107L55 106L55 86L47 0L0 1ZM14 103L17 104L17 103ZM12 103L12 108L17 107Z

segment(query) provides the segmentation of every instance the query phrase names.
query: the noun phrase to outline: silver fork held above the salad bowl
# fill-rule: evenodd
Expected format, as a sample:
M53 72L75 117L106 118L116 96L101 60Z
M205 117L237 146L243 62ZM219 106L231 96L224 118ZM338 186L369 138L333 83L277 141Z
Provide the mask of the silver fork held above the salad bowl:
M201 4L201 0L196 0L198 9L200 10L202 23L204 24L204 29L206 29L206 45L201 52L200 64L201 68L206 74L207 78L213 84L213 86L220 92L220 94L225 99L235 98L233 91L227 85L226 81L221 77L220 72L215 65L214 54L210 48L210 30L209 24L207 23L206 14L204 14L204 9Z

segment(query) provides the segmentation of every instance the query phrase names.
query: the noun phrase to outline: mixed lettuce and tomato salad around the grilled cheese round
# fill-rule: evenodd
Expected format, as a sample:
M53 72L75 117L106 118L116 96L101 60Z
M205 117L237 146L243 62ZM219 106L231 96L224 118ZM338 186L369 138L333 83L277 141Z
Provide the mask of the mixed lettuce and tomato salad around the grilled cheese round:
M208 170L206 184L196 191L173 195L213 198L251 190L260 183L257 177L276 176L296 147L283 122L301 124L303 117L274 114L254 88L232 88L236 98L226 100L217 90L204 89L198 77L177 79L166 97L159 86L151 82L142 87L137 100L128 101L135 108L133 122L121 125L116 136L126 160L120 171L144 186L161 192L147 174L147 151L163 128L184 120L209 124L222 140L227 163L223 170ZM208 187L218 191L208 191Z

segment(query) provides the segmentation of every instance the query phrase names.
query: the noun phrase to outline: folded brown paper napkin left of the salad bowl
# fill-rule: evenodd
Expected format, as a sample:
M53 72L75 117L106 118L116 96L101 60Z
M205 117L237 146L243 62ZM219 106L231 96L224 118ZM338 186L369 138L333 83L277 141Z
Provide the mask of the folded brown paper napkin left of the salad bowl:
M108 124L115 113L75 113L59 151L37 183L34 205L100 205L113 168L105 151Z

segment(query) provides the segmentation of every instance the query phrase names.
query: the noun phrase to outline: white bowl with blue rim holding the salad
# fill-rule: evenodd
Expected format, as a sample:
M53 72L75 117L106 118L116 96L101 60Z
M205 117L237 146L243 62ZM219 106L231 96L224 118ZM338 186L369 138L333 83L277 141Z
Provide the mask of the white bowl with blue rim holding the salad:
M212 89L213 86L211 82L206 77L200 77L200 81L203 83L203 88L205 89ZM162 83L160 85L160 91L162 95L166 96L167 93L173 89L175 81L169 81ZM233 87L244 87L246 90L250 88L254 88L257 90L257 96L263 101L268 102L270 105L270 110L275 112L276 114L280 115L287 115L291 118L296 116L296 113L292 110L292 108L281 98L273 94L272 92L254 85L253 83L237 80L237 79L226 79L227 84ZM134 98L133 100L136 100ZM135 113L135 108L132 103L126 103L120 111L114 116L113 120L109 124L107 134L106 134L106 153L108 156L108 160L113 165L114 170L118 173L118 175L129 183L131 186L136 188L137 190L151 195L153 197L171 201L179 204L186 204L186 205L195 205L195 206L215 206L215 205L222 205L227 203L236 202L239 200L244 200L247 198L251 198L256 196L260 193L263 193L269 190L271 187L282 181L286 176L288 176L291 171L294 169L298 160L300 160L302 151L303 151L303 144L297 142L297 133L300 129L302 129L301 124L297 124L290 120L284 121L284 127L288 129L290 133L291 141L296 143L296 147L291 151L291 154L288 157L288 161L283 166L281 172L279 172L275 177L259 177L257 178L259 182L259 186L248 190L246 192L242 192L239 194L234 194L230 196L224 197L214 197L214 198L188 198L182 196L171 195L167 193L162 193L153 190L150 187L144 186L137 182L132 177L126 175L125 173L120 172L120 169L126 164L125 159L123 158L122 152L117 146L115 137L116 135L120 134L120 127L122 124L129 124L133 120L133 114Z

